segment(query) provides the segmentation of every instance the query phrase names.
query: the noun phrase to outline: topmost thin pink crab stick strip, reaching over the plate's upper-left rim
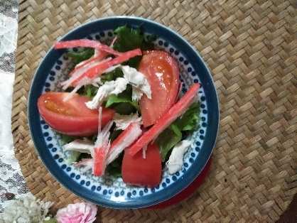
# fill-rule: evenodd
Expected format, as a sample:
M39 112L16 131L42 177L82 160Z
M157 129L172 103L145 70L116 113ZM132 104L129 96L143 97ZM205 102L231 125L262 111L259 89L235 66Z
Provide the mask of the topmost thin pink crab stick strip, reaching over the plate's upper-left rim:
M98 50L102 50L107 53L111 53L113 55L122 55L123 53L119 53L117 50L112 49L110 46L102 44L95 40L69 40L69 41L60 41L55 43L54 48L56 50L63 48L76 48L76 47L85 47L85 48L96 48Z

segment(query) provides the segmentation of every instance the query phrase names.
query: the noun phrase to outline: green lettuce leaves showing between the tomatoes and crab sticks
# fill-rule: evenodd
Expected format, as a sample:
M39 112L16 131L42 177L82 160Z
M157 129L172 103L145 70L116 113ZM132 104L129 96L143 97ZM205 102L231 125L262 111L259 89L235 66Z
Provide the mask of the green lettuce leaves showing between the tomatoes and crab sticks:
M129 28L126 25L120 26L114 30L114 34L117 35L117 40L115 40L113 48L114 50L117 50L119 52L126 52L128 50L134 50L136 48L140 48L141 51L153 50L153 42L158 37L154 34L145 36L142 26L139 26L138 28ZM94 55L94 49L85 48L85 50L82 51L70 51L66 53L66 55L72 58L74 62L79 63L83 60L91 58L92 55ZM123 62L122 65L129 65L130 67L134 67L137 69L139 67L141 59L142 56L136 56L126 62ZM123 77L123 72L119 68L116 68L114 71L102 75L102 83L116 80L117 77ZM82 87L82 89L80 89L78 93L92 98L95 97L97 89L98 87L87 85L85 87ZM104 106L114 109L119 114L131 114L135 113L136 111L140 113L139 104L137 101L132 101L131 94L131 85L127 85L124 92L121 92L118 95L109 96ZM162 162L165 162L168 159L171 154L172 148L173 146L175 146L176 143L181 141L185 135L188 135L192 131L199 129L198 121L201 120L199 113L200 103L195 102L188 108L187 112L173 121L173 123L156 138L155 141L158 144L158 148L160 149ZM112 131L110 135L111 141L117 138L119 134L121 134L121 131ZM61 135L61 138L63 140L63 143L68 143L75 139L72 136L65 135ZM93 136L92 139L95 141L95 136ZM124 153L121 153L121 155L116 160L114 160L107 166L107 171L114 177L121 176L121 162L123 154ZM74 159L78 156L78 159L90 157L90 155L84 153L73 153L70 154L70 156L72 161L74 161Z

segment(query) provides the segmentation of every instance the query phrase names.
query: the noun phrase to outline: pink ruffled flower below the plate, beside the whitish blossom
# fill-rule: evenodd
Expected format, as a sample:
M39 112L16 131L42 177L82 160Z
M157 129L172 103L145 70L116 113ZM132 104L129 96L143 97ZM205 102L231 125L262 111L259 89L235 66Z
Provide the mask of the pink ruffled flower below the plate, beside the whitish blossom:
M96 219L96 214L96 205L82 202L61 208L55 218L59 223L92 223Z

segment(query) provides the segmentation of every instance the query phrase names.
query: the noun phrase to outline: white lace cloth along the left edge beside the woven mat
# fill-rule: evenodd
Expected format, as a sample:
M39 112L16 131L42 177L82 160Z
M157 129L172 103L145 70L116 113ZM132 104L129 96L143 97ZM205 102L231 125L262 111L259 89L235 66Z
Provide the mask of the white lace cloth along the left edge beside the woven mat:
M9 205L7 193L29 192L14 156L11 107L16 66L18 1L0 1L0 212ZM4 117L3 117L4 116Z

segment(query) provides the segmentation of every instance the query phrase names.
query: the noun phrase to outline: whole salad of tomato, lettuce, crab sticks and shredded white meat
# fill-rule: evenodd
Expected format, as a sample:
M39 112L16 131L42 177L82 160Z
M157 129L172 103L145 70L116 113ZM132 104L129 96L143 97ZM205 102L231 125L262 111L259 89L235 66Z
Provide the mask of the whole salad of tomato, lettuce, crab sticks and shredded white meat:
M55 50L68 49L73 69L60 82L64 92L39 97L38 111L82 173L156 187L162 168L173 174L183 167L193 143L187 136L199 129L200 85L179 97L177 62L141 26L120 26L113 34L110 43L55 43Z

